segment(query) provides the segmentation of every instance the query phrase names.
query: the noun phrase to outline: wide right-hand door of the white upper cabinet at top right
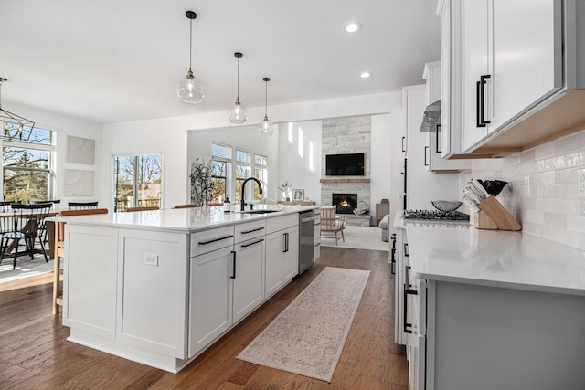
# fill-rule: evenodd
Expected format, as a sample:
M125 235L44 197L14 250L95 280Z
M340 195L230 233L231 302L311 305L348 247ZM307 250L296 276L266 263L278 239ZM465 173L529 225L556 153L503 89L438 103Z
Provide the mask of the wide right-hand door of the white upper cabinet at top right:
M560 2L494 2L494 101L496 129L561 87ZM518 23L518 20L522 23Z

